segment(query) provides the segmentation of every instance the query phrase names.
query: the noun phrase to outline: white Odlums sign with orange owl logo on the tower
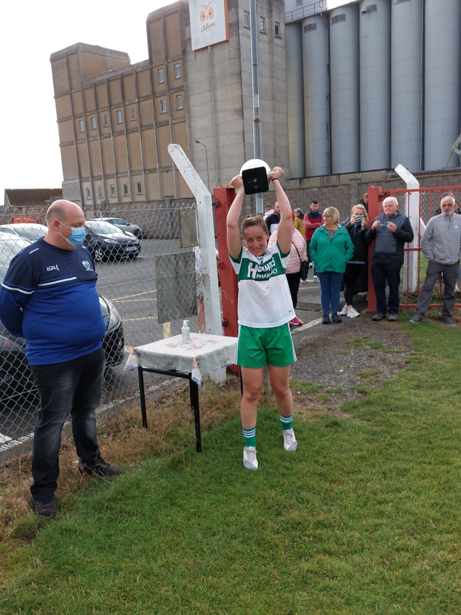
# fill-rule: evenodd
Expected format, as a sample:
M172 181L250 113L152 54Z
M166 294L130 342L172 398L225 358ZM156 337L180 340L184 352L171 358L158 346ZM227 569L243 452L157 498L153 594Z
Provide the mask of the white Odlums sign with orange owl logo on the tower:
M227 0L189 0L192 50L229 40Z

